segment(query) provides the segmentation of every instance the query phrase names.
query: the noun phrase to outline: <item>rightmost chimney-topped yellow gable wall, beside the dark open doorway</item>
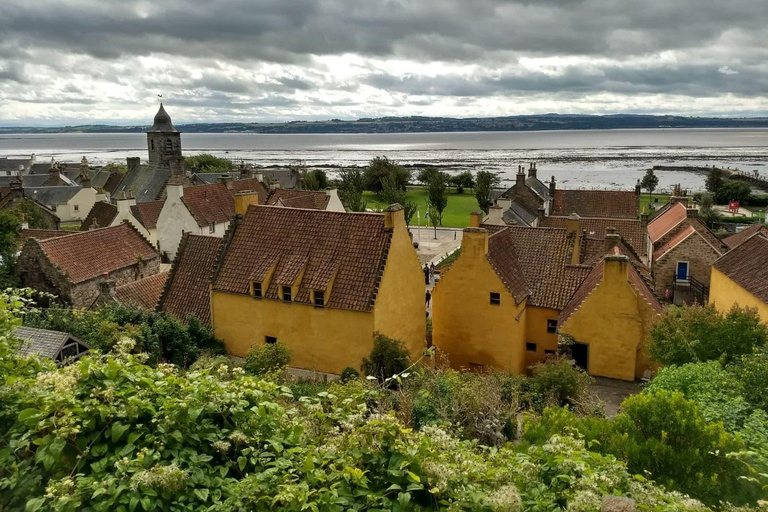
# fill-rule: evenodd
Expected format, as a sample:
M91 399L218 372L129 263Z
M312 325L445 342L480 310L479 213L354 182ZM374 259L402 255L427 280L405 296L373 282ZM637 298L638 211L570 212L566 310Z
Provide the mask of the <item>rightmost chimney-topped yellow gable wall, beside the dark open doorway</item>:
M657 314L627 282L628 265L607 259L603 281L560 326L561 334L589 345L591 375L634 380L655 366L645 342Z

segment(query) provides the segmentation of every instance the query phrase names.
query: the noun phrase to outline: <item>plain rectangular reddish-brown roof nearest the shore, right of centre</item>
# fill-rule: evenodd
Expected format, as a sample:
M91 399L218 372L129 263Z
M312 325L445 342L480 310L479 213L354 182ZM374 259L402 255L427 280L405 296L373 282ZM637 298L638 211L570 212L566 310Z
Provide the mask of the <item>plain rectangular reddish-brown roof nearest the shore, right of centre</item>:
M556 190L549 214L636 219L637 196L622 190Z

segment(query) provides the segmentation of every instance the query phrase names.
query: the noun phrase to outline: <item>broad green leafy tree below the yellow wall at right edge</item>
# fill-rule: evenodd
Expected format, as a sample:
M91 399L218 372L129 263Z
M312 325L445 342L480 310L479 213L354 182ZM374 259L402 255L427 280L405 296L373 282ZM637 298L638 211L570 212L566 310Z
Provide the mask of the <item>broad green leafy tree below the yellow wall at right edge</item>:
M733 306L727 313L707 306L671 306L651 327L648 349L660 363L720 361L729 364L768 342L768 328L755 309Z

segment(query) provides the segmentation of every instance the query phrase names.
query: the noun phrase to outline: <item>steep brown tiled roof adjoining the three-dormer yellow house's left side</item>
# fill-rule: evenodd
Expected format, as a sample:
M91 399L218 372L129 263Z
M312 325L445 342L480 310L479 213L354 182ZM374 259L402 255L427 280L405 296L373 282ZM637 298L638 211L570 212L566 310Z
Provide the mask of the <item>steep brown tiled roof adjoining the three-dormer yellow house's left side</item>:
M158 311L165 311L182 320L192 315L210 325L211 274L221 244L221 238L184 234L158 301Z

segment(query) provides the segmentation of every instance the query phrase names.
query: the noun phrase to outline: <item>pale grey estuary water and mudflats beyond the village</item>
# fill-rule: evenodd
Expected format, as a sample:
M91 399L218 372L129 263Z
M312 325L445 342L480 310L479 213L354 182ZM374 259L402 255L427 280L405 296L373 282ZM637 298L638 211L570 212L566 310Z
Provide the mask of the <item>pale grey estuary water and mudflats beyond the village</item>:
M182 134L185 155L212 153L264 167L304 162L333 174L339 167L365 166L375 156L401 164L436 166L447 172L490 170L514 180L518 165L536 162L540 178L555 176L567 188L628 188L654 165L719 166L768 176L768 130L646 129L535 132L459 132L389 134L189 133ZM0 156L55 158L92 164L146 159L146 135L1 135ZM657 171L659 187L680 183L699 190L699 172Z

